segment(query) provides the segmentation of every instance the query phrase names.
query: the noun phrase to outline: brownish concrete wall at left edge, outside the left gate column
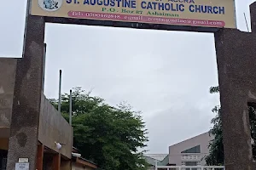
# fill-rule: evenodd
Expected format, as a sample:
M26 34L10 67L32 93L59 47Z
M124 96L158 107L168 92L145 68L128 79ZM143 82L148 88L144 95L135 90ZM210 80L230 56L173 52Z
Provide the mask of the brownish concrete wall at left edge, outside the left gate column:
M0 58L0 139L9 138L17 59Z

